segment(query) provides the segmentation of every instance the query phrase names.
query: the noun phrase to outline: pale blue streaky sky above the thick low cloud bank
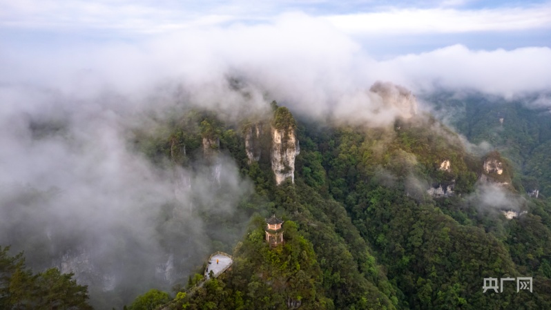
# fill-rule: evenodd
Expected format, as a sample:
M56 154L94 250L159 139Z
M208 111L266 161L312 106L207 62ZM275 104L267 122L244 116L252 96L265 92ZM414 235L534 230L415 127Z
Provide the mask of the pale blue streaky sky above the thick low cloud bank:
M286 12L324 19L385 59L453 44L549 46L550 1L0 0L2 45L133 41L189 28L271 23ZM376 42L376 44L374 44Z

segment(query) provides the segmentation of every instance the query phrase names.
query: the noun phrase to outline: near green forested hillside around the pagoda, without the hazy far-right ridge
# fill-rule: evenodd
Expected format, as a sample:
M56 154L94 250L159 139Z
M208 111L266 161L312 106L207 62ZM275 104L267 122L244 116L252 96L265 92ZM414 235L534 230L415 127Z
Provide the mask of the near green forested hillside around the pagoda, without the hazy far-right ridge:
M237 125L193 112L200 128L195 137L175 122L171 134L144 149L157 161L176 157L185 163L171 153L172 146L185 145L193 154L200 146L198 135L214 133L220 139L217 151L230 154L255 187L242 206L251 220L233 247L233 267L187 296L180 293L170 307L551 307L551 204L525 194L519 180L526 177L516 157L491 150L471 153L456 133L429 115L377 128L320 126L300 117L291 120L276 104L272 108L275 117ZM288 178L276 186L269 128L282 126L278 115L287 115L284 127L296 126L287 137L296 135L300 153L294 182ZM251 126L263 128L253 159L244 152L245 144L253 145L247 140ZM143 141L138 145L146 145ZM499 173L487 168L492 161ZM505 217L505 211L514 217ZM285 221L285 242L275 248L264 240L264 217L272 214ZM514 285L503 293L483 293L484 278L517 276L534 278L533 293L516 293ZM192 278L189 287L201 276Z

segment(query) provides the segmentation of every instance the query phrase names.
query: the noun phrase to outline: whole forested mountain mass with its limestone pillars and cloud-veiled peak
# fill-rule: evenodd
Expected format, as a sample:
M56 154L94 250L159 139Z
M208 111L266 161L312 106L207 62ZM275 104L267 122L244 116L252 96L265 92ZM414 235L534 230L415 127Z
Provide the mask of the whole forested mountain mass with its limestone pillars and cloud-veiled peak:
M405 88L369 92L392 122L320 122L273 101L238 119L186 108L154 130L135 124L128 148L173 180L150 210L162 255L142 271L119 261L133 286L99 277L94 305L120 308L175 284L166 309L550 309L545 110L441 93L422 97L433 116ZM265 239L273 215L283 221L276 246ZM214 251L233 255L231 269L187 291ZM485 278L516 277L532 277L533 291L508 282L483 292ZM117 294L126 299L106 297ZM150 291L130 309L148 296L151 307L166 302Z

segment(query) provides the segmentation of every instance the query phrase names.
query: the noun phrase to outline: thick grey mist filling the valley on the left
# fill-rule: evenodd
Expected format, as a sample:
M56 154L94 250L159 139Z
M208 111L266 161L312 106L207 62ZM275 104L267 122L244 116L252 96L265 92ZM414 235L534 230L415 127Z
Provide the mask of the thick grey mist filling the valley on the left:
M37 271L76 273L96 307L170 290L241 237L238 204L252 187L234 160L153 164L131 144L133 128L162 121L147 110L30 87L2 88L0 100L0 244ZM202 213L235 227L213 228Z

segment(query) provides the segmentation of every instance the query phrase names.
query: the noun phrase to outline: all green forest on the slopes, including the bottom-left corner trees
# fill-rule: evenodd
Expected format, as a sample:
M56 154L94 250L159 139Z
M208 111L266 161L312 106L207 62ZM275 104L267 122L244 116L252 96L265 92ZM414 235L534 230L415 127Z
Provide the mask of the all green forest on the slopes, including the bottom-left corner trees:
M238 206L244 219L202 214L227 233L244 231L231 244L209 236L212 251L233 255L231 269L189 290L202 281L205 266L197 266L187 282L151 287L124 309L551 309L551 114L481 95L426 100L436 104L435 116L377 128L319 124L276 102L271 113L241 122L186 110L155 132L137 128L129 147L164 167L193 168L202 141L219 141L211 154L230 157L254 190ZM260 158L251 162L245 139L253 124L263 129ZM294 130L300 142L294 182L276 185L271 128ZM461 135L491 147L471 148ZM484 170L490 159L503 173ZM427 192L439 186L450 191ZM538 197L528 195L534 190ZM492 205L498 194L514 206ZM502 211L509 210L519 216L508 219ZM277 246L264 236L271 215L284 220ZM2 309L90 309L86 287L72 275L34 274L24 253L7 250L0 252ZM483 293L484 278L516 277L532 277L532 293L513 282ZM63 287L71 293L56 296Z

